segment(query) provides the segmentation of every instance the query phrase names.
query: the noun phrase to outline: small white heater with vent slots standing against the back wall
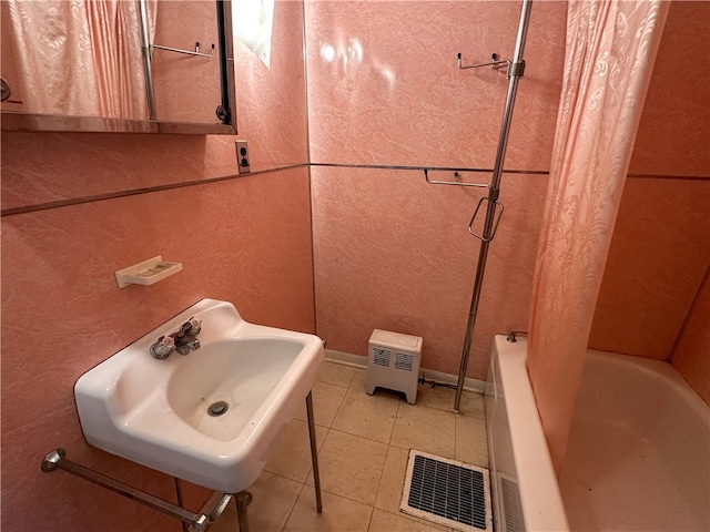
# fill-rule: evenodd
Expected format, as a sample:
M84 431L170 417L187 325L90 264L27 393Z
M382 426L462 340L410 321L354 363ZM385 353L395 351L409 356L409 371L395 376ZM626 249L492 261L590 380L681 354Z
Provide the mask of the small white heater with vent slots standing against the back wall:
M422 338L388 330L373 330L367 357L367 385L371 396L378 386L402 391L407 402L417 401L417 380L422 364Z

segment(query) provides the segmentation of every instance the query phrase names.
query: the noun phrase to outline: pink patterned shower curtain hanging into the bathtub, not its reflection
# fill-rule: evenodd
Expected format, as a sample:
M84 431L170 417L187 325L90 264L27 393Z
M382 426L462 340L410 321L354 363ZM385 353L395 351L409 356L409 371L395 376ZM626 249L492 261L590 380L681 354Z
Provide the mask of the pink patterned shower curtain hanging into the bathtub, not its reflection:
M669 3L570 1L528 372L559 474L599 286Z

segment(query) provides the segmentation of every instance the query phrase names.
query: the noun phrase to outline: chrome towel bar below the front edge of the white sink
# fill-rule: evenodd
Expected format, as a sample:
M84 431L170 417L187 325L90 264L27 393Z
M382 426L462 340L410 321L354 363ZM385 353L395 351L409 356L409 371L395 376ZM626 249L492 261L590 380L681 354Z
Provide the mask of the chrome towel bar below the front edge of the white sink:
M168 502L155 495L151 495L144 491L135 489L131 485L124 484L115 479L101 474L91 469L84 468L78 463L67 460L64 457L67 453L63 449L55 449L51 451L42 461L42 471L51 472L57 469L62 469L67 472L75 474L84 480L99 484L108 490L119 493L123 497L128 497L136 502L145 504L146 507L165 513L172 518L179 519L184 523L192 525L195 530L205 530L210 524L210 519L205 514L196 514L184 508L181 508L172 502Z

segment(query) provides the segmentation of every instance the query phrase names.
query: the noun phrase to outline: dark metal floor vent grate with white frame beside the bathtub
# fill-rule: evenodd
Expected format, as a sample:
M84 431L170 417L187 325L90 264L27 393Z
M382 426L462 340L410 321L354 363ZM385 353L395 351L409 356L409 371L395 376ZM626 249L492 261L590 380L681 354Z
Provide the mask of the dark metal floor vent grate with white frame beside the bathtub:
M488 470L409 451L399 509L463 531L491 531Z

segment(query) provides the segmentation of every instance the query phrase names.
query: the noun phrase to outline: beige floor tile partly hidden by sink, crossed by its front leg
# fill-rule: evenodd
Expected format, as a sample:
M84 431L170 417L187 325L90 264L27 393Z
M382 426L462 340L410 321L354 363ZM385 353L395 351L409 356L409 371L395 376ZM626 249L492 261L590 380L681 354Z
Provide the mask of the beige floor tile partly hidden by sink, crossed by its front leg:
M315 427L315 441L318 450L323 448L328 429ZM281 474L296 482L305 482L311 471L311 437L308 423L293 419L276 437L265 471Z

